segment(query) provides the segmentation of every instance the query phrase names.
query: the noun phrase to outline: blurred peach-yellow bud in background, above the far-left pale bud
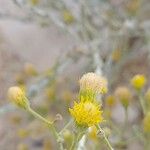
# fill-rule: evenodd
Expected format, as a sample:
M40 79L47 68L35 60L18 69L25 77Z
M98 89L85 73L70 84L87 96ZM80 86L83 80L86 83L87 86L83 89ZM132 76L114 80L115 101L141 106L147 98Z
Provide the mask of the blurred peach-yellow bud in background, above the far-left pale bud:
M31 63L26 63L24 66L24 72L26 73L26 75L28 76L36 76L37 70L35 69L35 66Z

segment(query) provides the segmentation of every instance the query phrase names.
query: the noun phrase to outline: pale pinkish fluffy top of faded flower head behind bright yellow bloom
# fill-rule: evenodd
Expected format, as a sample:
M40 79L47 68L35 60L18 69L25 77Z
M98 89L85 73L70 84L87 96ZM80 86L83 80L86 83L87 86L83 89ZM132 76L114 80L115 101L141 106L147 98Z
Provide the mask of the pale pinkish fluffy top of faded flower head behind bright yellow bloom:
M80 91L89 91L95 94L107 92L107 80L95 73L87 73L80 79Z

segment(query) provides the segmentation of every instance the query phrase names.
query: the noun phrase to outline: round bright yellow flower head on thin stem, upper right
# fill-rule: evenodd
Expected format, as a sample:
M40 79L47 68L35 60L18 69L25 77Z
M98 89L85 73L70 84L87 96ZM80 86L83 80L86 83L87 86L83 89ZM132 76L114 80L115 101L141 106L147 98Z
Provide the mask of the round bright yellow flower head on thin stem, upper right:
M136 90L141 90L146 84L146 78L144 75L140 75L140 74L135 75L131 79L131 84Z

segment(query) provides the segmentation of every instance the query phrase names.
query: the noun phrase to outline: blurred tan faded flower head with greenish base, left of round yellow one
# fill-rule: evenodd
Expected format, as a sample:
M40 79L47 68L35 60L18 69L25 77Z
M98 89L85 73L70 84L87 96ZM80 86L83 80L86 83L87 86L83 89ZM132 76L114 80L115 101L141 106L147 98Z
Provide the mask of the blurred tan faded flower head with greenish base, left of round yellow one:
M126 87L118 87L115 91L115 96L120 100L121 104L127 108L131 100L131 93Z

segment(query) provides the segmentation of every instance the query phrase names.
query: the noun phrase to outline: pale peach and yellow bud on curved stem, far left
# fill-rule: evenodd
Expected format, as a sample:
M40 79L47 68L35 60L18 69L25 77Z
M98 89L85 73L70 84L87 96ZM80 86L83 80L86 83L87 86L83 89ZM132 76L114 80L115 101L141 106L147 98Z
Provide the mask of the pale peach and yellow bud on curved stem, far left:
M26 98L25 93L17 86L9 88L8 99L23 109L27 109L29 107L29 101Z

